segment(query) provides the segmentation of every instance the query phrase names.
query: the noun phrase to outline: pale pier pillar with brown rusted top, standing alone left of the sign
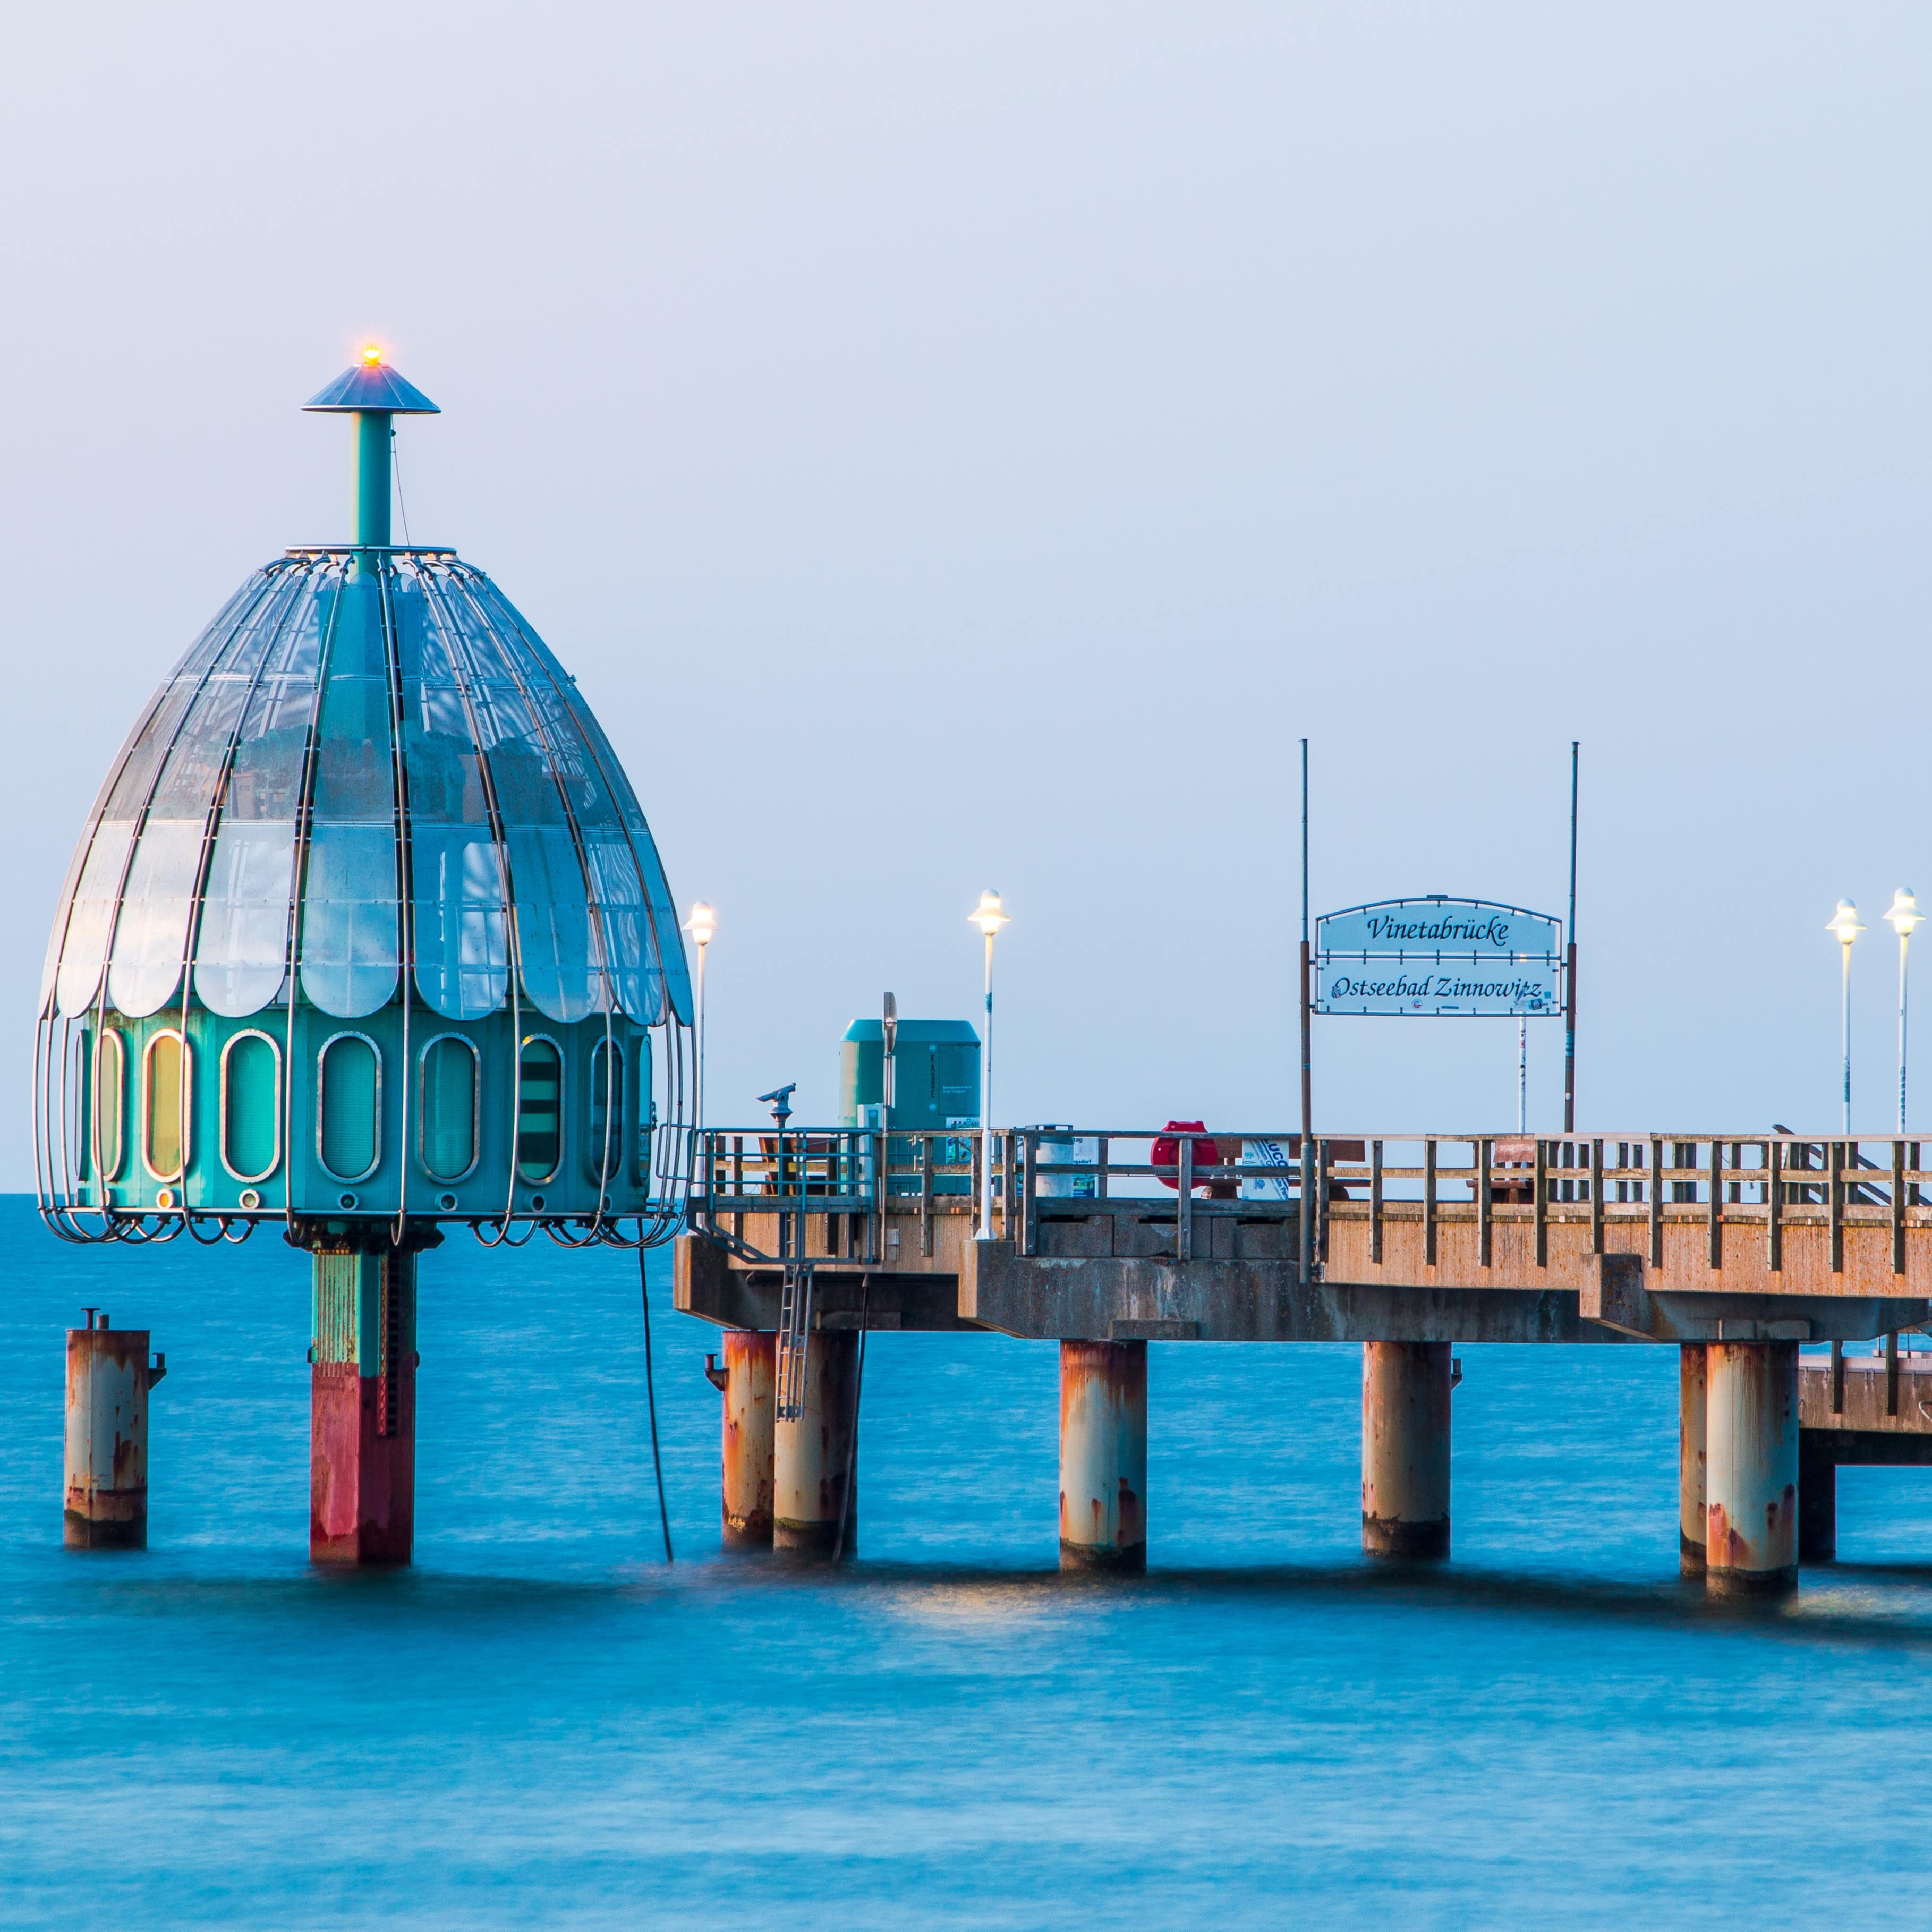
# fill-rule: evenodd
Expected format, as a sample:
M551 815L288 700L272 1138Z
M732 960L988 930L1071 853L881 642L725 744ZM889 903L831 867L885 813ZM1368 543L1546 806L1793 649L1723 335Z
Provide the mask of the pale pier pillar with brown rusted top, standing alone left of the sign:
M1148 1567L1148 1345L1061 1343L1061 1569Z

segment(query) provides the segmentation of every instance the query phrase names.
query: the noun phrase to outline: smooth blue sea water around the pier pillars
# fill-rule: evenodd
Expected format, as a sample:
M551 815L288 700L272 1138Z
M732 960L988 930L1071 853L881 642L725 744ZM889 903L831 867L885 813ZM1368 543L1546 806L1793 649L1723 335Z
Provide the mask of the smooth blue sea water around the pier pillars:
M1463 1349L1455 1559L1358 1553L1360 1350L1153 1345L1146 1578L1061 1577L1057 1350L867 1347L858 1561L719 1551L651 1258L423 1258L415 1565L307 1563L307 1258L0 1204L0 1924L1918 1924L1932 1470L1776 1607L1677 1580L1677 1354ZM168 1354L60 1544L62 1329Z

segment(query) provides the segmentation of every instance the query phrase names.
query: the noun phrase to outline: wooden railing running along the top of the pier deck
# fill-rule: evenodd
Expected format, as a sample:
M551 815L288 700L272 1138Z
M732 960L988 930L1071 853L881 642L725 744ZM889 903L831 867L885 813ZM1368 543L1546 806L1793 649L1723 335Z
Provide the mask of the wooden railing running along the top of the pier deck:
M916 1217L918 1258L929 1264L939 1217L966 1219L960 1236L980 1233L985 1159L993 1167L989 1233L1020 1254L1039 1252L1043 1219L1080 1219L1109 1211L1107 1204L1165 1206L1182 1262L1196 1258L1198 1225L1215 1217L1300 1223L1298 1134L1034 1126L991 1134L705 1128L694 1146L692 1225L746 1260L879 1265L887 1225ZM1366 1217L1372 1264L1383 1262L1385 1225L1412 1225L1418 1211L1424 1265L1435 1265L1443 1223L1474 1221L1480 1267L1492 1264L1499 1225L1526 1223L1534 1265L1544 1267L1551 1225L1588 1227L1592 1254L1609 1242L1662 1265L1665 1227L1696 1223L1712 1267L1723 1265L1727 1242L1733 1250L1754 1242L1774 1273L1787 1229L1826 1231L1833 1273L1843 1269L1847 1231L1889 1229L1891 1271L1903 1275L1907 1231L1932 1227L1932 1171L1920 1167L1920 1142L1905 1138L1321 1134L1306 1165L1316 1179L1308 1250L1318 1262L1329 1256L1341 1204L1349 1221ZM769 1231L767 1217L775 1217L777 1254L746 1238L748 1219ZM811 1240L815 1233L823 1242Z

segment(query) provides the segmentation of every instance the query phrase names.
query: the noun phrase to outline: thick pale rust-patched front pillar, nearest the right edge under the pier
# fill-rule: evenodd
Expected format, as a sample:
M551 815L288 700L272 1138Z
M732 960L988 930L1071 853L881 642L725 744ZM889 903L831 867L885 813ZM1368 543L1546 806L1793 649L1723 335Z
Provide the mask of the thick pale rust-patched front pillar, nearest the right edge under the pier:
M1770 1596L1799 1575L1799 1345L1706 1345L1706 1580Z

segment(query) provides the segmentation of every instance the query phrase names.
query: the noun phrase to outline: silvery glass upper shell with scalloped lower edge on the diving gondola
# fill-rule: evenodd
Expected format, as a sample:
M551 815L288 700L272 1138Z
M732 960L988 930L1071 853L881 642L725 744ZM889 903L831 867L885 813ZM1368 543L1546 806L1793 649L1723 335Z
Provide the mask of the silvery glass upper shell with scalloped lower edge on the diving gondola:
M404 945L404 937L413 941ZM450 551L294 551L155 694L95 804L43 1007L690 1020L665 869L576 680Z

